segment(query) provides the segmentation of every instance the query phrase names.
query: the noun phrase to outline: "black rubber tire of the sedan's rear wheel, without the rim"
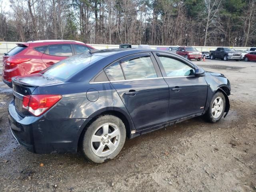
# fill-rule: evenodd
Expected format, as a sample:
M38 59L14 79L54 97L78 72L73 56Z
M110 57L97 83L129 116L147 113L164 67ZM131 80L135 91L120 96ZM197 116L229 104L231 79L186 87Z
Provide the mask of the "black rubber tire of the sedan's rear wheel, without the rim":
M119 128L120 137L118 139L120 141L119 141L119 144L117 145L116 149L114 150L114 152L111 152L111 154L109 154L108 156L98 156L92 150L91 139L92 139L92 136L94 135L95 131L100 126L102 126L103 124L106 124L106 123L114 124ZM103 131L103 129L102 129L102 131ZM110 132L110 131L111 131L111 127L109 126L108 132ZM102 133L102 136L100 136L100 137L103 137L103 133ZM114 139L113 142L115 142L117 140L116 138L117 137L112 138L112 139ZM115 158L119 154L119 152L122 150L122 148L124 146L125 139L126 139L126 128L120 118L113 116L113 115L99 116L94 122L92 122L92 124L90 124L90 126L88 126L88 128L86 129L86 132L84 133L84 138L82 140L82 153L84 154L84 157L87 160L89 160L90 162L103 163L110 159ZM102 144L102 142L95 142L95 143L98 143L98 147L100 146L100 144ZM105 147L103 147L103 148L104 148L104 150L105 150L105 148L110 149L110 148L108 148L107 144L105 144ZM97 148L95 150L97 150Z

